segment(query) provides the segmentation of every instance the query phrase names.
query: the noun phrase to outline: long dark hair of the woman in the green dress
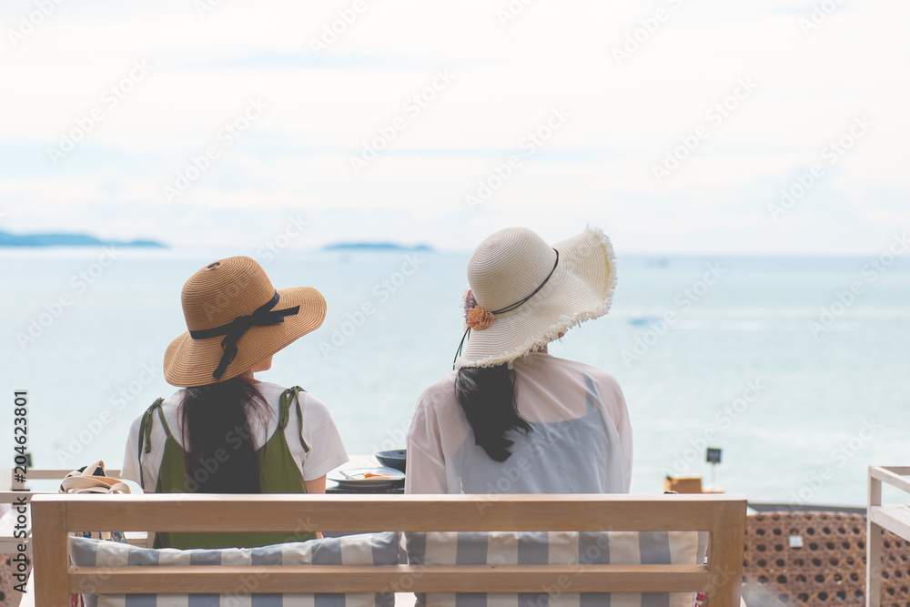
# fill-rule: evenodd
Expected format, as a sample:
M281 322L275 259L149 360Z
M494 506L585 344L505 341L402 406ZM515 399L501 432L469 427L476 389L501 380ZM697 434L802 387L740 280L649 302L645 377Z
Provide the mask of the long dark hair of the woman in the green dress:
M267 409L256 386L243 377L184 391L187 492L262 492L248 419L264 416Z

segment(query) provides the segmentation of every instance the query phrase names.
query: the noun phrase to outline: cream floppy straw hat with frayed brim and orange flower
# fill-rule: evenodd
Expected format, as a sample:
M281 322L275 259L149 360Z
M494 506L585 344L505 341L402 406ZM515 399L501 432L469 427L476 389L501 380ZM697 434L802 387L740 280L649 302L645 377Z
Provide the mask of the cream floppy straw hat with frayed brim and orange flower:
M474 249L468 283L465 336L454 366L493 367L610 311L615 256L599 228L552 247L528 228L507 228Z

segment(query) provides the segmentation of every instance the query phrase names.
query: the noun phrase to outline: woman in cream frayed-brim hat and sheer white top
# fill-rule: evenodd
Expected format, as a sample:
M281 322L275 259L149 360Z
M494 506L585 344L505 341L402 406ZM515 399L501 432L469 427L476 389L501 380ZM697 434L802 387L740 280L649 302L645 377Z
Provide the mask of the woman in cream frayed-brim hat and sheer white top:
M474 249L468 282L457 372L420 396L405 491L628 492L632 429L616 379L547 353L610 309L610 239L588 228L551 247L504 229Z

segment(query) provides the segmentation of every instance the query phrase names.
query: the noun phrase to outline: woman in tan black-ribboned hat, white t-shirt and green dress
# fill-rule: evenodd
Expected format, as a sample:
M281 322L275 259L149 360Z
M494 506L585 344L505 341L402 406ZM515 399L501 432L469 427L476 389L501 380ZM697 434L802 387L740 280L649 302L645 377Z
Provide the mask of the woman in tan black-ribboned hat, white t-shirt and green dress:
M167 347L165 379L182 387L130 428L123 477L156 493L324 493L348 461L329 410L300 388L254 378L326 316L315 288L276 290L251 258L221 259L181 295L187 332ZM252 515L252 514L251 514ZM159 533L160 546L255 546L311 533Z

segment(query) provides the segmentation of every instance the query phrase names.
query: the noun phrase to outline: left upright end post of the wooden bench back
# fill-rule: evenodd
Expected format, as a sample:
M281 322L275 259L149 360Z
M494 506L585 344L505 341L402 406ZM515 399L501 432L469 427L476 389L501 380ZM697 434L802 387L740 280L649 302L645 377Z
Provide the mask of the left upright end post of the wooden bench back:
M66 503L42 501L39 497L31 507L35 607L69 607Z

